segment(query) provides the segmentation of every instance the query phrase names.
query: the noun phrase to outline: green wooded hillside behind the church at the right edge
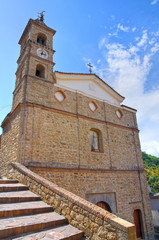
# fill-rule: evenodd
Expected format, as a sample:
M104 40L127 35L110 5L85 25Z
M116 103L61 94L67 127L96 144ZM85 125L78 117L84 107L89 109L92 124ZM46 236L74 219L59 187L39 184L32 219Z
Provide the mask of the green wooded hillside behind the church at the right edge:
M147 171L147 180L152 193L159 192L159 158L142 152L144 167Z

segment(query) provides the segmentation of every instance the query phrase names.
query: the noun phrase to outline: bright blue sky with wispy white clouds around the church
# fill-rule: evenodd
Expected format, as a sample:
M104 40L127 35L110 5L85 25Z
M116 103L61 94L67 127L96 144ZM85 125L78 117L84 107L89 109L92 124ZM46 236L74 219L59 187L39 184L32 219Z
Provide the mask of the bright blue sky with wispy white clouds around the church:
M142 150L159 156L159 0L0 0L0 122L10 111L18 40L45 10L54 70L93 72L138 110ZM1 130L0 130L1 133Z

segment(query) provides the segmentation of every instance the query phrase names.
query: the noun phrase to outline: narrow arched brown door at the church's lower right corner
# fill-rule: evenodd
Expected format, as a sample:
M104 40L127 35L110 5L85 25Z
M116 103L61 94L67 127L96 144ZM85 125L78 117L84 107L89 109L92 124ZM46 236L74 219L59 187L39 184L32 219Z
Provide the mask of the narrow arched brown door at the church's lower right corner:
M133 217L134 217L134 224L135 224L135 227L136 227L136 237L137 238L144 238L141 210L140 209L134 210Z

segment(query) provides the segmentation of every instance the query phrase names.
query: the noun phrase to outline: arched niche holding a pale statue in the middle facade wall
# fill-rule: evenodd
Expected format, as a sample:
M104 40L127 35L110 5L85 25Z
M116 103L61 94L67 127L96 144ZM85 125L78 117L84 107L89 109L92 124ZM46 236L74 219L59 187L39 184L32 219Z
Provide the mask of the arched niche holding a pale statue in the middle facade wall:
M102 152L102 136L100 130L90 130L90 145L92 152Z

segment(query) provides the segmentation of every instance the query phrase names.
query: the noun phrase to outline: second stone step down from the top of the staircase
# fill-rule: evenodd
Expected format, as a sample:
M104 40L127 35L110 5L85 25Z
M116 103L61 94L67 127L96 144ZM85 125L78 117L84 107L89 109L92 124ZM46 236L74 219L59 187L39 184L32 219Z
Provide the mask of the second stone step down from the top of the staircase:
M0 192L22 191L29 188L21 183L4 183L0 184Z

